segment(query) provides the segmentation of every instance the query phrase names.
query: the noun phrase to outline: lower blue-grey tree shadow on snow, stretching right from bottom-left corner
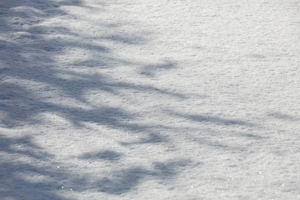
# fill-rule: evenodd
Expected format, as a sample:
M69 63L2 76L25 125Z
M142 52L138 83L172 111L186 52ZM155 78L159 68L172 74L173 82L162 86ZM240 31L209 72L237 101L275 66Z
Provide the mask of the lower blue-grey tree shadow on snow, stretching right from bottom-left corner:
M109 172L102 171L102 177L92 174L82 176L53 162L53 154L36 145L31 137L8 137L0 135L0 198L1 199L71 199L65 196L65 189L77 192L97 190L119 195L134 189L141 181L157 179L169 181L175 178L189 164L199 166L190 159L173 158L155 161L151 169L131 166ZM119 161L121 153L113 150L86 152L78 158ZM93 181L89 181L92 177ZM64 187L65 188L64 188ZM67 188L66 188L67 187Z

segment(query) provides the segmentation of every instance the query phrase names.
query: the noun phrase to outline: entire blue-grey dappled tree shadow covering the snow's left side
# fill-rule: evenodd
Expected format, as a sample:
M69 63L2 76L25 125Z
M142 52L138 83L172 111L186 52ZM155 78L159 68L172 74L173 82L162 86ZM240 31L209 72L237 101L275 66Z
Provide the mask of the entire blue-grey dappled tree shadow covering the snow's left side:
M72 70L82 66L101 69L101 66L114 67L115 62L130 62L115 57L105 45L87 42L84 40L88 39L87 35L80 35L61 25L40 24L53 16L68 14L60 8L62 5L85 6L80 0L11 0L1 6L1 126L20 128L24 125L41 124L44 119L40 116L50 112L67 119L76 128L83 128L82 122L92 122L113 129L144 134L138 141L121 142L123 145L166 142L167 137L156 131L161 128L167 129L166 126L132 123L130 121L136 117L134 113L103 102L93 105L86 99L85 92L94 89L99 93L105 91L119 95L120 90L130 90L168 95L177 99L185 99L186 95L151 84L113 80L101 72L80 73ZM77 39L67 39L69 36ZM142 43L144 37L108 35L101 39L135 45ZM61 66L55 56L74 48L100 52L101 57L93 60L87 58L76 64L66 61L68 63ZM110 63L110 66L107 63ZM142 67L142 71L146 76L154 76L159 70L175 65L175 62L166 60L162 64ZM18 144L23 147L18 149L15 147ZM80 174L63 168L58 169L57 164L51 161L55 155L34 144L33 139L0 135L0 153L3 155L3 159L0 160L0 197L15 199L70 199L60 191L64 181L81 185L81 188L76 188L78 191L98 189L105 193L121 194L134 188L144 178L175 177L176 168L186 165L182 163L189 163L186 160L154 162L153 169L129 167L113 171L112 177L107 176L94 183L87 183L86 177ZM121 156L121 153L103 150L84 153L79 158L118 161Z

